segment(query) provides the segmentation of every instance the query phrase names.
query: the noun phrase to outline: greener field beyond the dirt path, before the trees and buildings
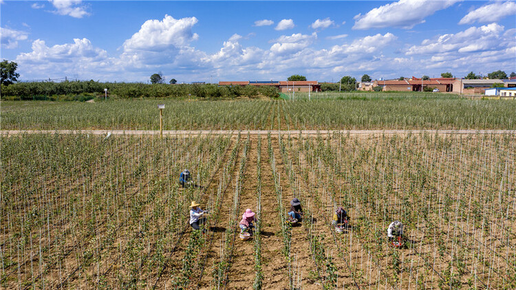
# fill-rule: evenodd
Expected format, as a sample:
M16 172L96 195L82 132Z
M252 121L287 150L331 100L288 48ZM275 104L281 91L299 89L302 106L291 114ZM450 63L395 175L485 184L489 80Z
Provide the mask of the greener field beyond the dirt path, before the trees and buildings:
M515 129L516 102L432 93L294 93L294 100L2 101L7 129Z

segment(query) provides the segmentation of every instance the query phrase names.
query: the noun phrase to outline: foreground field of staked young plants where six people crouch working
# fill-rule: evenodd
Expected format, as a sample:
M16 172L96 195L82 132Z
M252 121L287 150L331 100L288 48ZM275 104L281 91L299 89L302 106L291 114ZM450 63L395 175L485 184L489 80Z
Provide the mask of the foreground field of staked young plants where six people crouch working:
M297 105L244 103L266 104L279 124ZM514 289L515 139L3 136L0 287ZM180 187L184 168L197 186ZM305 211L294 227L293 197ZM210 212L205 233L188 225L191 200ZM343 233L331 225L339 205ZM246 208L261 222L240 241ZM387 243L396 219L400 249Z

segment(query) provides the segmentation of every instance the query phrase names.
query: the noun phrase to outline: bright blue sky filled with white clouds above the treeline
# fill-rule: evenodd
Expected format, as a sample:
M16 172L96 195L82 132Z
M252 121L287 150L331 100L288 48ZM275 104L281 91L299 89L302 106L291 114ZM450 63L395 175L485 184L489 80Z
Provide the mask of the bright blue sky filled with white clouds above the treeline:
M515 1L6 1L21 80L337 81L516 71Z

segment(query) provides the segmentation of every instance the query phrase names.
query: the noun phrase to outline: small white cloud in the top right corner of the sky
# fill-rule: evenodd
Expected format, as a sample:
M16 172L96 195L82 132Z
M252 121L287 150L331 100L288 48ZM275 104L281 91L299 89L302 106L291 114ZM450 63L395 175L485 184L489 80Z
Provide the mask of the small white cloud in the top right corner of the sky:
M477 8L460 19L459 24L471 24L475 22L489 23L499 21L505 16L516 14L516 3L507 1L505 3L495 2Z

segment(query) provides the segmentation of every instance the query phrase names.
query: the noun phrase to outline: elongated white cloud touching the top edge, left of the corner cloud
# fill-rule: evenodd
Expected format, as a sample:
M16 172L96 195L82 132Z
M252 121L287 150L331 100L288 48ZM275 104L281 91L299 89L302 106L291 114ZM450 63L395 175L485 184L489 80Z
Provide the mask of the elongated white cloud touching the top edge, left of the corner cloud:
M382 5L367 12L365 15L354 16L355 30L370 28L401 27L411 29L423 23L427 16L438 10L448 8L458 0L400 0Z

